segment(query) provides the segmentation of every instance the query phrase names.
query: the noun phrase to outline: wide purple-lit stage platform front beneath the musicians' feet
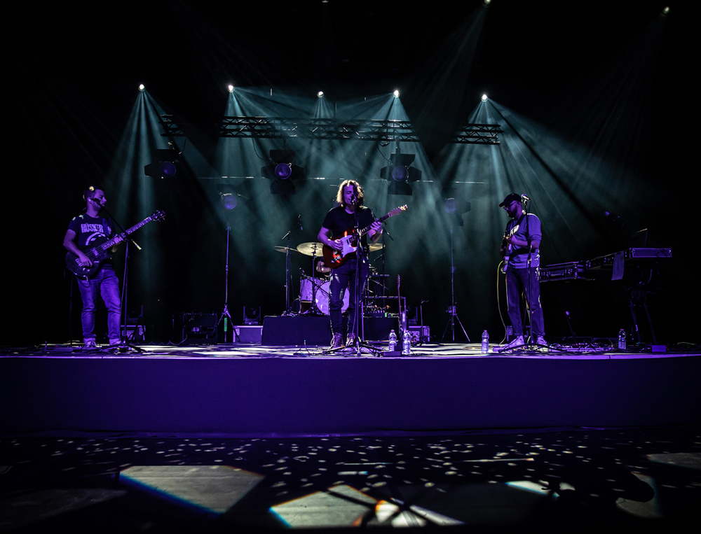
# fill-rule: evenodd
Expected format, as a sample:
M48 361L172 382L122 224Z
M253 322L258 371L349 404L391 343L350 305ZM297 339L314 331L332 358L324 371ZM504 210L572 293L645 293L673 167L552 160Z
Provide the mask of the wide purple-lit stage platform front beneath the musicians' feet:
M332 435L701 422L699 353L399 358L234 344L0 357L1 433Z

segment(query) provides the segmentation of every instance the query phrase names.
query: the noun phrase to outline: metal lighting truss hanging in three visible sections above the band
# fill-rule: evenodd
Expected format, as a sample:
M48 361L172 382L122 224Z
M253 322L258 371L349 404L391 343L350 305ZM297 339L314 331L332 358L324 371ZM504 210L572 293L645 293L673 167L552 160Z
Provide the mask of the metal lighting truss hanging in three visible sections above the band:
M185 136L189 126L172 115L161 115L165 137ZM451 140L453 143L498 145L499 125L465 125ZM222 118L219 137L250 137L258 139L330 139L338 141L386 141L418 143L418 136L408 120L353 119L335 122L332 119L290 119L274 117Z

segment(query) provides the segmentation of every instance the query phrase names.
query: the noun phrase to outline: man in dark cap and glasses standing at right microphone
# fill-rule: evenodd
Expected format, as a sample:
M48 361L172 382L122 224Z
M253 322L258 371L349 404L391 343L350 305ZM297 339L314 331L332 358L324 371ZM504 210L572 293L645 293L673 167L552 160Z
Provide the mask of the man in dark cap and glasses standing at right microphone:
M506 297L509 318L516 338L501 351L524 345L523 321L521 317L521 295L524 294L531 309L531 344L547 346L543 326L543 309L540 307L540 219L533 213L524 211L523 202L527 197L511 193L499 204L506 210L511 220L501 246L505 258ZM506 259L508 258L508 260Z

